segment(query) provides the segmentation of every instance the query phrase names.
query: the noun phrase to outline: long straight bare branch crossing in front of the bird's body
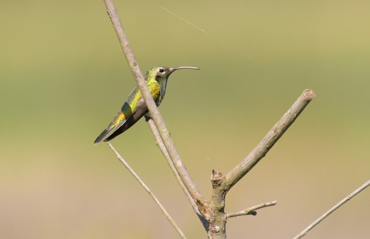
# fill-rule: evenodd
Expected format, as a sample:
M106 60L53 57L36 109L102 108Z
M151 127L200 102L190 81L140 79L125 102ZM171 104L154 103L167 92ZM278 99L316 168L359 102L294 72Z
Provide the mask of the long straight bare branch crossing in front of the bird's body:
M122 27L121 20L118 17L117 10L115 9L114 3L112 0L104 0L105 6L107 7L107 12L111 18L112 25L120 41L122 50L127 59L128 65L132 71L132 74L135 77L137 85L141 91L141 94L144 98L145 103L147 104L148 110L151 114L151 117L154 120L155 126L158 129L159 135L162 138L162 141L167 149L168 155L170 156L176 171L178 172L181 180L184 182L184 185L188 189L189 193L194 198L195 202L198 205L206 204L206 200L203 195L200 193L198 187L195 185L195 182L192 180L190 174L186 170L184 164L181 161L181 158L175 148L174 143L172 142L171 136L165 126L165 123L159 114L158 108L154 103L153 97L149 92L148 86L145 83L144 77L139 69L138 63L134 57L134 53L128 43L125 31ZM186 192L185 192L186 193Z

